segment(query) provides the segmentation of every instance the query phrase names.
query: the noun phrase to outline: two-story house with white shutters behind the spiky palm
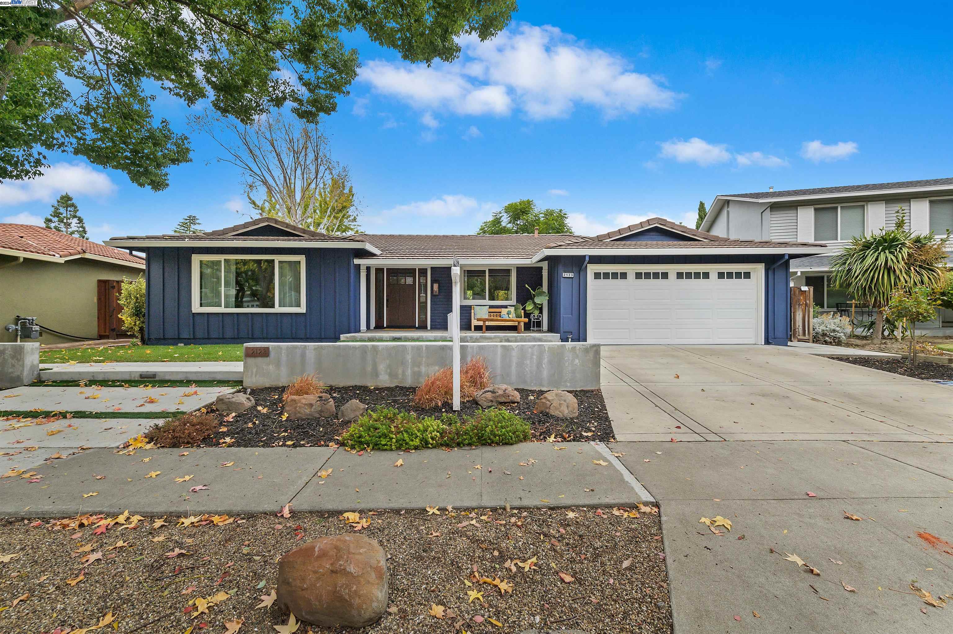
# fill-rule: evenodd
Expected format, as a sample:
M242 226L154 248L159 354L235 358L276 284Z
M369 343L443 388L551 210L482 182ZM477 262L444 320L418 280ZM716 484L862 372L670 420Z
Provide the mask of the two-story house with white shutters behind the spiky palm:
M718 195L701 230L739 239L825 242L837 249L856 235L892 227L900 214L914 232L953 231L953 178ZM813 287L821 308L844 310L850 297L830 284L830 258L793 260L791 283ZM936 320L923 324L925 335L950 332L953 311L940 309Z

